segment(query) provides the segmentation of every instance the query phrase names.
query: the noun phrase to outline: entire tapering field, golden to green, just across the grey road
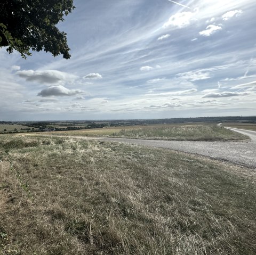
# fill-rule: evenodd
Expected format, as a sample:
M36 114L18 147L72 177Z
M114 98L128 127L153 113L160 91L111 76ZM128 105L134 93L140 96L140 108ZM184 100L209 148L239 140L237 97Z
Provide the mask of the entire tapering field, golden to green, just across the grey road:
M49 134L49 133L47 133ZM247 136L217 125L145 125L112 128L97 128L74 131L60 131L52 135L69 136L115 136L139 139L163 139L181 141L227 141L247 139Z

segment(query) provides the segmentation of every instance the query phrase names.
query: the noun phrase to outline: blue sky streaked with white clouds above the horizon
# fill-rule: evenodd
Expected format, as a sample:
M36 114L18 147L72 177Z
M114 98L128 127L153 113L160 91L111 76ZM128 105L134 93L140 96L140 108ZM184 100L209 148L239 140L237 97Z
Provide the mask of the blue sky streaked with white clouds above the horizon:
M255 0L75 0L71 58L0 49L0 121L256 115Z

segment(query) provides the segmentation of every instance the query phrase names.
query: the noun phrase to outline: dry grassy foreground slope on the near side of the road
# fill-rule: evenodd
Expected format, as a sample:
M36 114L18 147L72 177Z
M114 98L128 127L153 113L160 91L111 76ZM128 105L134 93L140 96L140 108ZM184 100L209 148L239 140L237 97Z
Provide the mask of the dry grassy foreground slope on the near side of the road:
M114 142L1 136L0 254L256 254L255 172Z

